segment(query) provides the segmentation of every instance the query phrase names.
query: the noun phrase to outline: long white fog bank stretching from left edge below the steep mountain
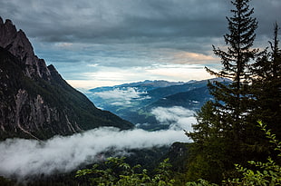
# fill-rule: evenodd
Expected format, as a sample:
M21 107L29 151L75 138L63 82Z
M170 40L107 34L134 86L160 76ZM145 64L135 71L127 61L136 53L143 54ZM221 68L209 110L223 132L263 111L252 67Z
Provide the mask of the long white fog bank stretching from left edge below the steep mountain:
M103 127L72 136L56 136L45 142L7 139L0 142L0 175L26 179L40 174L67 172L82 164L97 161L102 152L189 142L181 130L146 132L140 129L119 131Z

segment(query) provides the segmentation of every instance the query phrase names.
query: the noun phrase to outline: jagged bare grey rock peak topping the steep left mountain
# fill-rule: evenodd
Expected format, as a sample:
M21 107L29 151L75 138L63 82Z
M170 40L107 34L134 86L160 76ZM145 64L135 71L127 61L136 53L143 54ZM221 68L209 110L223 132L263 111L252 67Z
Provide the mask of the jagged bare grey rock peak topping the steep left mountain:
M0 17L0 46L8 50L25 64L24 74L28 77L40 77L50 79L44 60L34 54L34 48L22 30L17 31L13 22L9 19L3 22Z

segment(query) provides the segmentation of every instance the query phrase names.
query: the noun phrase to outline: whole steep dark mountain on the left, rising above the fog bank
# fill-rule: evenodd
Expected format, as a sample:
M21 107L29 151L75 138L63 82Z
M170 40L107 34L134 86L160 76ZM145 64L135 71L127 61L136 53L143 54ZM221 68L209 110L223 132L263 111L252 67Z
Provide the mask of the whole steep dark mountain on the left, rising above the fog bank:
M34 54L22 30L0 17L0 138L47 139L131 122L97 109Z

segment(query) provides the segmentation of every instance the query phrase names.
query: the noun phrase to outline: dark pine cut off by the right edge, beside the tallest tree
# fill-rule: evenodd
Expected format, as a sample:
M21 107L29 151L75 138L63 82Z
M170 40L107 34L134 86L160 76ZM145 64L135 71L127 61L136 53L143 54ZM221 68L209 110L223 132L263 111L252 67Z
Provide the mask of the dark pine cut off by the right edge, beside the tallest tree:
M277 24L270 52L265 51L254 64L252 117L261 120L276 133L281 140L281 50L279 49Z

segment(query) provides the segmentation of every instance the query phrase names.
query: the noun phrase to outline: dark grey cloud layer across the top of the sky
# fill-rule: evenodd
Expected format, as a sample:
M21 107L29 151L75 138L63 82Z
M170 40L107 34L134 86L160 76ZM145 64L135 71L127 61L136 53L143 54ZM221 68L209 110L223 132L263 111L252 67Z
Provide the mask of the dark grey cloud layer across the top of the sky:
M268 25L280 16L281 2L255 0L251 4L262 23L259 32L268 34ZM0 3L1 15L12 19L31 37L47 42L82 43L219 37L226 32L225 16L231 8L226 0L5 0Z

